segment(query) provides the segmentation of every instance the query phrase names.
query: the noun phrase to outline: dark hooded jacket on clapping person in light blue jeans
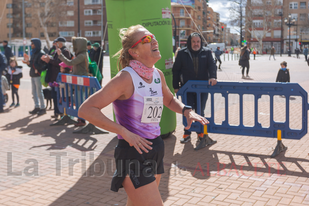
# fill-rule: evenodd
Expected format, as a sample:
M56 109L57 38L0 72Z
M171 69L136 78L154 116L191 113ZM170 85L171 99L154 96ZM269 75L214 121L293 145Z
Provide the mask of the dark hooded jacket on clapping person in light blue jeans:
M41 40L38 38L31 39L36 48L32 49L32 55L30 58L30 77L39 77L41 72L46 69L47 64L41 60L41 57L45 52L41 49ZM38 73L35 73L35 69Z

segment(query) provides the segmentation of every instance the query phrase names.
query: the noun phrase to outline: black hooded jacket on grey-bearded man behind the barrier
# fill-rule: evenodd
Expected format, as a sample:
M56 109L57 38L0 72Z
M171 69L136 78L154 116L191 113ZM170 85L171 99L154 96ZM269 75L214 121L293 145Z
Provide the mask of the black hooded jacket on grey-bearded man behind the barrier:
M217 66L214 57L212 56L210 49L206 47L201 46L200 50L194 52L194 55L198 57L198 68L197 72L195 71L192 58L193 50L191 48L191 36L192 34L187 40L188 46L179 50L172 68L174 89L179 89L188 82L188 80L207 81L210 78L217 78Z

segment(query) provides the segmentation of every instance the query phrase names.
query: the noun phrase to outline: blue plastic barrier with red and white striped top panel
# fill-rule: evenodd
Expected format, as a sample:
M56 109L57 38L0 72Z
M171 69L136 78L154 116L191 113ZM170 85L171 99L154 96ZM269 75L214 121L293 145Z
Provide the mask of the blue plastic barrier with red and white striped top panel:
M90 95L92 95L93 93L102 88L101 85L99 84L98 79L96 77L90 77L90 76L78 76L72 74L59 73L57 76L57 82L65 83L65 89L61 88L61 93L66 94L60 97L60 89L56 87L58 109L60 112L66 113L74 117L78 117L78 108L85 101L85 99L88 98L88 92ZM69 101L68 98L69 97L68 88L70 88L71 101ZM74 96L73 96L73 89L74 89ZM59 103L60 98L61 103ZM75 109L73 103L75 104Z

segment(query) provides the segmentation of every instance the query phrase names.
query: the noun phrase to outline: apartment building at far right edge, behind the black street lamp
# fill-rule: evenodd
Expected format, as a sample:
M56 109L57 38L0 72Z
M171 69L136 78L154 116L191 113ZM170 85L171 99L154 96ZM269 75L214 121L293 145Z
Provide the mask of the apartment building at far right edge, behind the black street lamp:
M309 2L308 1L289 1L283 0L283 19L289 21L295 18L294 25L291 26L291 51L294 53L296 48L303 49L305 45L309 46ZM290 29L283 22L283 49L287 53L289 49Z

